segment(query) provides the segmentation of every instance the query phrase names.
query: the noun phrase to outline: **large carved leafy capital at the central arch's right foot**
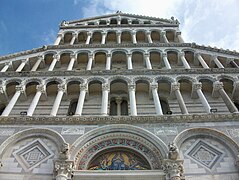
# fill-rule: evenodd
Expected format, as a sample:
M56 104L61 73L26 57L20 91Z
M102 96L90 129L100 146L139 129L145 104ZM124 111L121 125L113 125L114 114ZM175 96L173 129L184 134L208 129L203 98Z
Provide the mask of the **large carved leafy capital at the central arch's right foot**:
M164 159L162 169L170 180L180 180L184 173L183 160Z

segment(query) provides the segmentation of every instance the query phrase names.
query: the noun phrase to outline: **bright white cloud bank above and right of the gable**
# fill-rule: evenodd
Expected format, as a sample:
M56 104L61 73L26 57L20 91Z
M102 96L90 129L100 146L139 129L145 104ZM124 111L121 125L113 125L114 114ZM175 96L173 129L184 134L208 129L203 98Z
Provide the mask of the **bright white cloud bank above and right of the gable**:
M82 1L82 0L81 0ZM74 0L79 4L80 0ZM84 17L116 12L170 18L180 21L186 42L237 49L238 0L91 0L82 8Z

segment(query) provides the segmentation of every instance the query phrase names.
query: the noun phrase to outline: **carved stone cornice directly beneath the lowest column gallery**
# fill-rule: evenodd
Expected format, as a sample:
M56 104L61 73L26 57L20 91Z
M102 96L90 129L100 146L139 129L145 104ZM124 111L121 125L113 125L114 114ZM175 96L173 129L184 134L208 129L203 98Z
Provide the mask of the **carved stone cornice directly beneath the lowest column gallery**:
M163 116L64 116L0 117L1 125L105 125L140 123L239 122L239 114L192 114Z

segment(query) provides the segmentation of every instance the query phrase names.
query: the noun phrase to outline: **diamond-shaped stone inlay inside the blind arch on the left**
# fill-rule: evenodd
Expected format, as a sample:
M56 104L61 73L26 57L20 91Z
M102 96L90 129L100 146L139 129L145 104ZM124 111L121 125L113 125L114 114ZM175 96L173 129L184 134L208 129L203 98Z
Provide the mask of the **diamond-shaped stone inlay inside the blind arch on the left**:
M13 156L16 158L22 168L26 172L29 172L42 162L54 156L54 153L43 141L37 139L21 149L13 152Z

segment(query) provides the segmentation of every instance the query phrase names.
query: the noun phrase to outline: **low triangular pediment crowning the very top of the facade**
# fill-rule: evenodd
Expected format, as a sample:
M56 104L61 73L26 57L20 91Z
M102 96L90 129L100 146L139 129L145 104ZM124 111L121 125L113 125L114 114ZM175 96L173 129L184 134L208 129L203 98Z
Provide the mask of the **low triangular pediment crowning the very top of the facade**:
M121 19L127 21L131 21L132 24L137 24L137 21L139 24L154 24L154 25L178 25L179 22L174 19L173 17L171 19L163 19L163 18L156 18L156 17L150 17L150 16L143 16L143 15L135 15L135 14L126 14L126 13L114 13L114 14L108 14L103 16L96 16L91 18L85 18L75 21L63 21L61 23L61 27L64 26L86 26L86 25L107 25L110 21L114 21L117 19Z

